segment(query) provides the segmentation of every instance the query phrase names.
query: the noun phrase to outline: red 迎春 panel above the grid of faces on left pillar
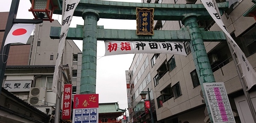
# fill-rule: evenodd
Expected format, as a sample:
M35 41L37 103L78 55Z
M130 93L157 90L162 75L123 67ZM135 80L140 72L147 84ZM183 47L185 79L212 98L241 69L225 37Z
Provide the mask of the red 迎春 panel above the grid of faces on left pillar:
M99 94L74 95L73 108L99 108Z

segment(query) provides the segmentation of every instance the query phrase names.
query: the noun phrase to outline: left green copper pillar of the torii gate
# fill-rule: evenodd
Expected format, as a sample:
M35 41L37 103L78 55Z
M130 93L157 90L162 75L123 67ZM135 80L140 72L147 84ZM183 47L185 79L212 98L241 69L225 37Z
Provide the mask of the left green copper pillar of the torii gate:
M97 22L99 13L86 9L84 19L80 94L96 93Z

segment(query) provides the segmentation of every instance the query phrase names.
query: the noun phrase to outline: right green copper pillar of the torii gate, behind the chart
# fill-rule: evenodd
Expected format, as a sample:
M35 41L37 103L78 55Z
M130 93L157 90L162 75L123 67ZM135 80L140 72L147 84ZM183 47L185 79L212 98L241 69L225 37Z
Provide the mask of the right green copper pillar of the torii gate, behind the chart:
M211 115L210 107L206 98L206 93L204 91L203 83L215 82L215 78L213 76L212 68L207 56L207 52L205 50L202 34L198 27L197 14L195 13L186 14L183 17L182 22L184 23L185 27L188 28L189 30L189 34L191 37L189 46L193 56L195 69L200 81L201 89L204 94L204 100L205 100L205 104L209 114L209 118L212 123L212 117L211 117L212 115Z

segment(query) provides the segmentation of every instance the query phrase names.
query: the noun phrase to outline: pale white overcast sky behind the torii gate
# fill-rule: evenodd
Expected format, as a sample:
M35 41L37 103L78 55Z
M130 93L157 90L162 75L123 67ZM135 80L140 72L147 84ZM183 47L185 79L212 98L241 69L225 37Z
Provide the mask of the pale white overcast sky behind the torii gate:
M112 1L141 3L141 0ZM12 0L1 0L0 5L2 7L0 12L9 11L11 3ZM20 0L16 18L33 19L32 12L28 11L30 7L31 3L29 0ZM61 22L61 15L53 15L53 19ZM81 17L73 17L70 27L76 27L76 24L83 25L84 20ZM99 19L98 25L104 25L104 28L108 29L136 29L136 20ZM82 40L76 40L75 43L82 50ZM98 41L96 93L99 94L99 103L118 102L120 109L127 109L125 70L129 70L134 54L104 56L104 53L104 42ZM104 57L101 58L99 56Z

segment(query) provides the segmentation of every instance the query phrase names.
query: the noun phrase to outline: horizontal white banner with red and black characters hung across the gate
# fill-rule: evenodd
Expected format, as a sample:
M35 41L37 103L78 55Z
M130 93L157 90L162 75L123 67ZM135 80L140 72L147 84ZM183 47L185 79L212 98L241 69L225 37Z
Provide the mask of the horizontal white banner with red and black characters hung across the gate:
M187 56L183 42L105 41L105 56L130 53L166 53Z

